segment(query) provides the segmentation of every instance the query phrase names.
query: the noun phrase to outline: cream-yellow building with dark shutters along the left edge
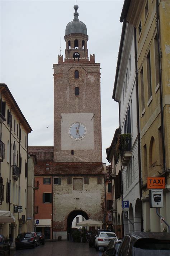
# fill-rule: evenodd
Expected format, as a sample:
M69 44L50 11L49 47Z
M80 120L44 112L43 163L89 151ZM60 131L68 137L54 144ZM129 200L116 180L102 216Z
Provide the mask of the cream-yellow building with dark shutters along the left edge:
M27 231L27 146L31 131L9 88L0 84L0 210L15 217L13 223L0 220L0 233L11 242L18 233Z

